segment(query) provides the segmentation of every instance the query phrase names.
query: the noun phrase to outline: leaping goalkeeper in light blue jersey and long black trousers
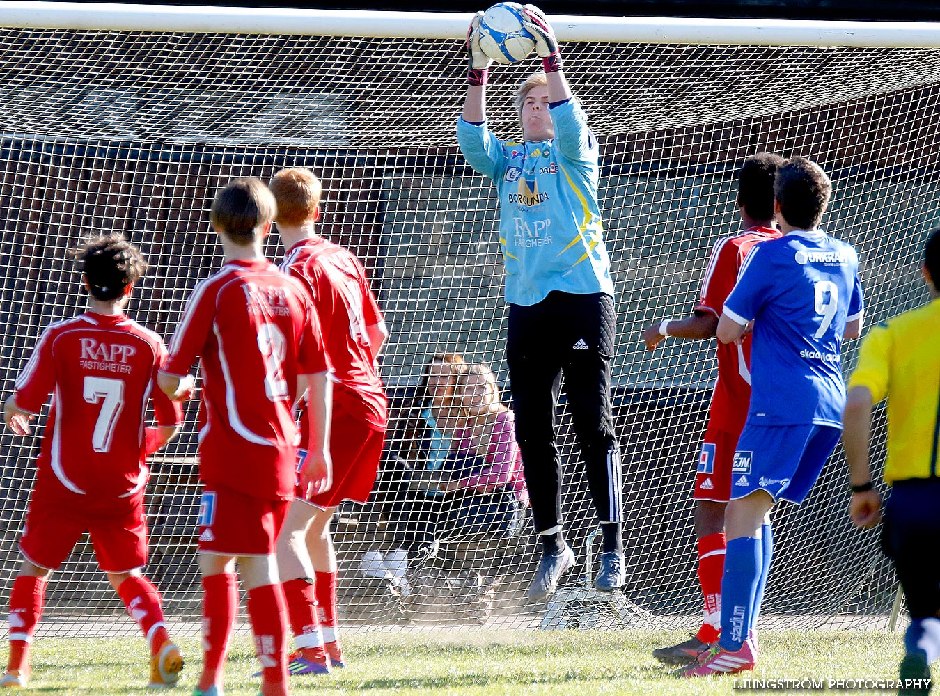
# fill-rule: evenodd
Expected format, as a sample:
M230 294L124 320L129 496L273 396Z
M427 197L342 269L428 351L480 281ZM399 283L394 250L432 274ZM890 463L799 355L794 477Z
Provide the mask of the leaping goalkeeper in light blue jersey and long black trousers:
M543 72L516 93L523 137L499 140L486 126L487 69L479 12L467 39L470 69L457 139L466 161L499 192L499 237L509 302L507 360L533 521L542 558L530 601L555 592L574 565L561 520L556 404L565 375L572 422L603 530L595 586L623 583L622 475L610 405L616 313L598 203L598 144L565 79L552 27L525 6Z

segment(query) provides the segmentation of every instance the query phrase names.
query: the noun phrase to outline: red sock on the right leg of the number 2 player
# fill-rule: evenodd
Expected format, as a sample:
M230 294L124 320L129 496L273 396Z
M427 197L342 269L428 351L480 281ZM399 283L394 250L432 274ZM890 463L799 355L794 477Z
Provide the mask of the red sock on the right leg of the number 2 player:
M288 680L287 610L279 584L248 591L248 618L255 633L255 655L261 663L261 693L279 694L276 685L287 688Z

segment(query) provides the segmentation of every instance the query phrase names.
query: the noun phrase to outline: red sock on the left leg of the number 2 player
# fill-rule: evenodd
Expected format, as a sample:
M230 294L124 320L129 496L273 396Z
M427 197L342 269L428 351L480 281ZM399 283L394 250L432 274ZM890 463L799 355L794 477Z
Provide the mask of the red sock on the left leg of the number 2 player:
M197 688L222 686L228 641L238 613L238 578L220 573L202 579L202 676Z

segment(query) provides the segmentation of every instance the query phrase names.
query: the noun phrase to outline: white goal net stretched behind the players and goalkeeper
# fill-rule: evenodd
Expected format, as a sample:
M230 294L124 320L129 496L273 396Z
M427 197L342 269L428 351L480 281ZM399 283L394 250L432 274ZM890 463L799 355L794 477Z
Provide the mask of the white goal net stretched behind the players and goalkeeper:
M436 554L412 559L412 595L402 602L366 573L378 554L396 548L402 520L389 501L409 485L396 455L410 444L402 424L424 363L438 351L486 361L511 404L497 201L454 135L469 17L439 15L443 28L422 29L400 14L357 23L368 13L321 13L342 19L345 33L291 35L249 33L267 26L250 20L194 21L189 30L179 25L185 17L166 26L90 28L75 13L38 23L6 11L0 7L10 27L0 34L5 396L42 328L85 307L69 255L80 240L118 230L141 247L151 269L130 314L168 338L196 281L222 261L208 224L216 190L235 177L267 180L286 166L320 175L321 234L362 259L391 332L382 358L392 407L382 480L372 503L344 504L334 522L341 620L349 626L697 626L691 489L714 345L669 339L649 353L640 332L685 316L697 301L713 243L738 229L735 174L745 156L804 155L831 175L835 193L823 226L859 251L869 324L926 299L918 264L926 232L940 223L940 51L932 48L940 43L911 39L904 27L867 42L822 24L808 39L775 39L760 23L725 23L742 42L734 44L710 39L704 21L686 24L698 22L701 38L663 32L650 42L630 33L649 20L556 21L566 74L601 144L619 320L614 400L627 582L614 602L583 589L592 550L596 558L595 518L562 403L565 526L579 563L560 595L572 601L525 607L537 556L523 520L521 534L512 525L476 536L441 532ZM593 38L572 40L586 25L596 29ZM409 37L409 27L420 31ZM724 36L719 29L713 36ZM813 31L835 37L833 44L800 45L824 43ZM375 36L395 33L402 36ZM502 137L519 133L510 94L535 66L492 71L490 126ZM276 236L266 251L280 255ZM846 371L856 349L848 342ZM191 402L180 439L152 460L147 569L168 617L181 622L174 630L194 632L195 420ZM4 432L0 439L4 607L41 434L39 426L32 437ZM875 440L880 466L881 410ZM843 469L839 449L807 503L776 511L762 626L886 626L893 572L877 533L848 521ZM42 630L135 630L86 540L54 575Z

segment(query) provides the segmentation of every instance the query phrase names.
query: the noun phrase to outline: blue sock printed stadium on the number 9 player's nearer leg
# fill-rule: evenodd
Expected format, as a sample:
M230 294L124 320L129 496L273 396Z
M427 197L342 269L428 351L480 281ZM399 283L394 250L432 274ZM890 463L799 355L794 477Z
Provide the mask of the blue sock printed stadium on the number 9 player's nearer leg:
M754 599L760 578L760 539L743 536L731 539L725 550L725 575L721 580L721 638L725 650L741 650L754 614Z

